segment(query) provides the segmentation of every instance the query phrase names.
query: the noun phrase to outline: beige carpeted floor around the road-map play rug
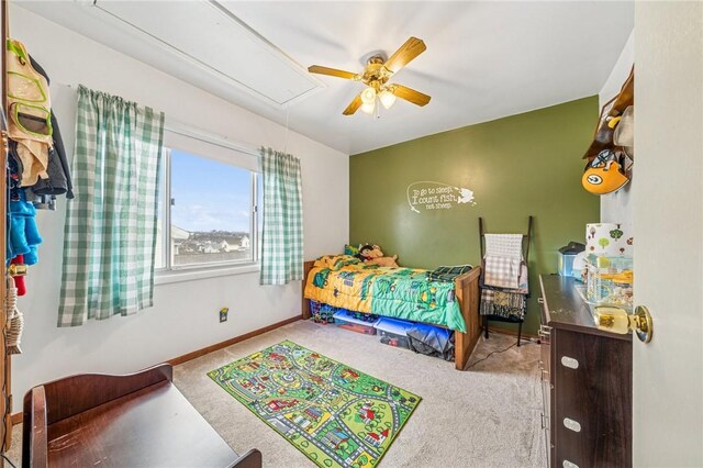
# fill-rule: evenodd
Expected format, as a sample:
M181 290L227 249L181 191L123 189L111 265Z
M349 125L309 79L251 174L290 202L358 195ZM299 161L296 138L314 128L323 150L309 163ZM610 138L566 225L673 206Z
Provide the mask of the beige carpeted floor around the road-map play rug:
M539 425L539 347L524 344L495 354L468 371L454 363L416 355L360 335L312 322L295 322L175 368L175 382L208 422L237 452L256 447L265 467L313 467L284 438L233 399L208 371L291 339L422 395L423 400L381 461L381 467L544 467ZM479 342L469 366L515 343L491 334ZM13 448L20 457L20 427Z

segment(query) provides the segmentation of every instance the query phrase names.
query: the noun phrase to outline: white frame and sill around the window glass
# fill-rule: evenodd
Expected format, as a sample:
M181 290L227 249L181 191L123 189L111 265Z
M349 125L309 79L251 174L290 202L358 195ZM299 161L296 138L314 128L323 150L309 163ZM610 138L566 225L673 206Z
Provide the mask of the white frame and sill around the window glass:
M181 148L178 144L169 144L169 134L177 136L177 140L182 137L188 138L192 145L188 148ZM172 143L172 142L170 142ZM219 147L220 151L232 152L233 159L236 159L235 154L245 155L248 157L258 158L253 149L244 148L238 145L231 144L227 141L221 141L220 138L203 134L201 132L193 132L186 130L185 127L165 127L164 135L164 154L161 155L161 170L160 177L163 182L159 185L159 208L161 209L161 233L160 233L160 250L163 258L163 266L154 268L155 283L167 283L186 281L199 278L211 278L215 276L237 275L243 272L258 271L260 269L259 258L259 242L260 233L258 230L259 219L261 215L260 207L258 205L259 197L259 180L263 177L260 170L244 167L244 165L236 164L236 160L227 161L222 157L210 157L208 155L208 147ZM199 148L202 147L202 151ZM250 258L237 259L237 260L224 260L224 261L211 261L189 265L175 265L171 252L171 207L174 205L174 194L171 187L171 168L172 158L171 151L177 149L192 157L199 157L210 161L219 163L226 166L232 166L237 169L249 171L249 242L250 242Z

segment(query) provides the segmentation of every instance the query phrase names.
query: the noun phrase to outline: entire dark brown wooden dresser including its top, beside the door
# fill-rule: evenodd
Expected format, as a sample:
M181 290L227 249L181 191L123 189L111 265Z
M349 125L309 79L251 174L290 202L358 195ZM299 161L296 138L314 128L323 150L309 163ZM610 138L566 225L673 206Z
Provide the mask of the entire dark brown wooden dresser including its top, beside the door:
M573 278L539 277L548 466L632 466L632 334L595 327Z

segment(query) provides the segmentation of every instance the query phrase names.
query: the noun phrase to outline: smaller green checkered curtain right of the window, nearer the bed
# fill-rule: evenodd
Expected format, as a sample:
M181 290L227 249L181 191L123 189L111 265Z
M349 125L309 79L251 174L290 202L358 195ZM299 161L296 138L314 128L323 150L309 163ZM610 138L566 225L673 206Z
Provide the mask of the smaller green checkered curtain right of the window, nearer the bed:
M303 190L300 159L261 148L264 232L261 285L303 279Z

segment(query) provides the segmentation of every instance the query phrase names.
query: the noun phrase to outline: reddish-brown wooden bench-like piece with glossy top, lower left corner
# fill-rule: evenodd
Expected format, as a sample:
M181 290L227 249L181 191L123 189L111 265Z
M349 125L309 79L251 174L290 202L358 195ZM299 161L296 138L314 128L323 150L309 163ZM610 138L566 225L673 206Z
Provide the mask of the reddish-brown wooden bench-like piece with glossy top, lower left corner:
M172 383L168 364L125 376L87 374L24 397L23 467L260 468L238 456Z

